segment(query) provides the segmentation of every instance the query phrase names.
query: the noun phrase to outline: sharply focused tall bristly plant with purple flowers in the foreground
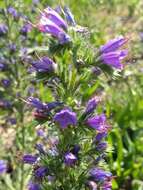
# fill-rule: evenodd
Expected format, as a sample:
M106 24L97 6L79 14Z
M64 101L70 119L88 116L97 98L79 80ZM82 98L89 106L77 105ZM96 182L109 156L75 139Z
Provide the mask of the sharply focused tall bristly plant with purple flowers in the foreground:
M113 174L106 157L112 127L98 77L106 72L104 80L112 78L115 69L123 68L127 50L121 48L127 39L118 37L95 50L87 29L76 24L67 7L45 8L36 27L51 35L47 39L55 51L49 47L46 55L30 61L45 98L26 100L37 123L35 151L22 158L33 168L28 189L111 190Z

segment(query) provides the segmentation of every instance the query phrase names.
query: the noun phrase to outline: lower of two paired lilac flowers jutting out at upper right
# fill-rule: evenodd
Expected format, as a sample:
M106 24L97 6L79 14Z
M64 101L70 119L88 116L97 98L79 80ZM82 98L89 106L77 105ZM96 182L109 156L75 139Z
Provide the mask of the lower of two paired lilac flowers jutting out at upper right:
M121 63L121 61L127 56L127 54L127 50L122 50L110 53L103 53L100 58L104 64L122 70L123 64Z

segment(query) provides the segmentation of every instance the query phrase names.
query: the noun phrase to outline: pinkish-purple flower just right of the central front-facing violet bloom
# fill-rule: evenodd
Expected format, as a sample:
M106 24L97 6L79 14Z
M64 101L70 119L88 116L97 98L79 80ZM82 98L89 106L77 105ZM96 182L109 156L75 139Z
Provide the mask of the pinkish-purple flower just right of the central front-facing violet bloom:
M104 130L107 127L106 116L104 114L101 114L101 115L97 115L97 116L94 116L92 118L89 118L87 120L87 124L99 132L104 132Z

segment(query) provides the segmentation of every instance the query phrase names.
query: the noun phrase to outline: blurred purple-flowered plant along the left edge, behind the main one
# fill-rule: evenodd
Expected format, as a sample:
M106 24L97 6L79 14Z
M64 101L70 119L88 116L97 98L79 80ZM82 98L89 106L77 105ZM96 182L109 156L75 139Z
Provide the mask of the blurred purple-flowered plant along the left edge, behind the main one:
M26 80L29 75L24 63L27 46L32 43L29 37L31 25L24 14L25 10L30 12L32 7L29 6L29 10L24 7L26 4L22 5L19 1L0 2L0 174L3 174L0 184L3 189L9 188L5 176L8 176L11 181L8 184L13 189L24 189L26 180L24 164L17 164L18 158L13 159L18 152L24 152L25 137L29 133L24 126L23 114L28 110L21 99L35 93L34 83ZM19 178L14 180L17 175Z

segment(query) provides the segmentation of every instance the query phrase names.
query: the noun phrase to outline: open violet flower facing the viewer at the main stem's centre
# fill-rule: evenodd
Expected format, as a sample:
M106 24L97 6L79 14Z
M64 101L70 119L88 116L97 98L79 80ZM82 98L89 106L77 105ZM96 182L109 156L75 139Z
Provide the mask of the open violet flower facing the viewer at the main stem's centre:
M56 113L54 116L54 121L57 122L62 129L68 127L69 125L76 125L77 118L76 114L68 109L63 109Z

